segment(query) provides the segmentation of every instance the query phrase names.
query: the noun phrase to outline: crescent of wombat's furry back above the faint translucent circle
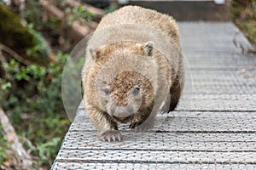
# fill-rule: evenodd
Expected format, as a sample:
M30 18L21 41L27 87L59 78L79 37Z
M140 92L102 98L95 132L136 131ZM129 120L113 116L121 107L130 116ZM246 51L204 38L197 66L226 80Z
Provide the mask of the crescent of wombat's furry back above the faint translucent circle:
M111 14L107 14L102 18L97 30L107 26L122 24L150 26L158 31L166 33L166 35L171 37L174 42L179 44L177 24L171 16L137 6L126 6Z

